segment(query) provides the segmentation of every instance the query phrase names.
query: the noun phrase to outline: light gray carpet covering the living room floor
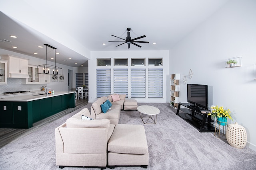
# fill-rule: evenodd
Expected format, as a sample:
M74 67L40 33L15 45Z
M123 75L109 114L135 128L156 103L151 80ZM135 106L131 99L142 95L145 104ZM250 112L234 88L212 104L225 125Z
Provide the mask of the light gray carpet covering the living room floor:
M86 106L53 121L0 149L0 170L60 170L55 160L54 129ZM144 125L138 111L121 111L123 124L144 125L149 151L148 170L256 170L256 152L236 149L214 133L200 133L176 115L168 103L140 103L160 109L156 124ZM152 123L152 122L150 122ZM86 144L85 144L86 145ZM63 170L99 170L65 167ZM109 169L109 168L106 168ZM120 166L116 170L141 170Z

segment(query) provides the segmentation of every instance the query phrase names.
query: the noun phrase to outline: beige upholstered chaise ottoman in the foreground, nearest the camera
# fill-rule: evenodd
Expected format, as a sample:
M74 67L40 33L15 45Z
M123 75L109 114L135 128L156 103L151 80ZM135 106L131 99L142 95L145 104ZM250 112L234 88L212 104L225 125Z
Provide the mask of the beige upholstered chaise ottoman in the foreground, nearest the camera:
M144 126L117 124L108 141L108 167L148 167L148 144Z

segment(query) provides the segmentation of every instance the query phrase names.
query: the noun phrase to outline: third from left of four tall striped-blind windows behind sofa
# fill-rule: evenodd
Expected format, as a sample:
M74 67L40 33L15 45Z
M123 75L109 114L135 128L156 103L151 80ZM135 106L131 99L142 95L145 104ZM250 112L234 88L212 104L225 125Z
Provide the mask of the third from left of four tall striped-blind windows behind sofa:
M146 69L131 69L131 98L146 97Z

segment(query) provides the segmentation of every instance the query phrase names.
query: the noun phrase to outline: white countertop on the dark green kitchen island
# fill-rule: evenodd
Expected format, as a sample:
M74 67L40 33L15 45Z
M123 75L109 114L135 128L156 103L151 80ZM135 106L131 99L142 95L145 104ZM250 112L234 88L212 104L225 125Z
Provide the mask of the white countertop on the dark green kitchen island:
M41 92L28 92L28 93L23 93L23 94L12 94L12 95L1 95L0 96L0 101L5 101L5 102L30 102L33 100L39 100L39 99L44 99L44 98L50 98L54 96L61 96L64 94L70 94L70 93L75 93L75 92L56 92L54 91L54 94L44 94L43 91ZM36 94L43 94L43 95L36 95Z

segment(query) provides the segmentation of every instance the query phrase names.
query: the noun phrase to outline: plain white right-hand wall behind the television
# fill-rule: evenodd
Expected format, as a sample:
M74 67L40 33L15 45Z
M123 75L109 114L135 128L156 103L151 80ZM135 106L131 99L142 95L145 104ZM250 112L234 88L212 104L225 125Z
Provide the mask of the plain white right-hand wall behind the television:
M242 57L242 66L225 68L225 59L232 57ZM229 1L175 45L170 58L170 73L186 75L187 83L208 84L209 104L230 109L234 121L229 123L244 126L247 146L256 150L256 1ZM182 84L181 102L187 102L186 90Z

